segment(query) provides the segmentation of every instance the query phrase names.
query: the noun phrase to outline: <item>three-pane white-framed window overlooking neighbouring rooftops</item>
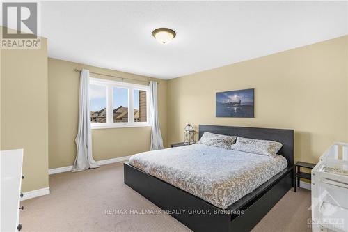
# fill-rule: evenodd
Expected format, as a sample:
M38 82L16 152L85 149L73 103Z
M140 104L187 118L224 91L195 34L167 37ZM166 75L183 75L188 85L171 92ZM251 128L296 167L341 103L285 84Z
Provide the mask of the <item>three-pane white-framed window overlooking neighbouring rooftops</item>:
M148 86L90 78L92 129L148 126Z

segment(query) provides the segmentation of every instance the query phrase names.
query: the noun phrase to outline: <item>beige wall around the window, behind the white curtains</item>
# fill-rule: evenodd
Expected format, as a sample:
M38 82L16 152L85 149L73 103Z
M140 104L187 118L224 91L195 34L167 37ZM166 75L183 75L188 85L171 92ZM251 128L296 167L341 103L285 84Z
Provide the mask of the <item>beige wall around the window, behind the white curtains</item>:
M77 135L79 105L79 73L74 69L86 68L90 72L100 72L118 77L149 80L148 77L132 75L115 70L48 59L49 72L49 169L72 165L76 155L74 139ZM92 77L98 77L91 75ZM113 79L111 77L99 76ZM118 79L116 79L118 80ZM158 104L159 123L166 144L166 91L167 84L159 80ZM138 84L143 84L139 82ZM134 155L150 149L150 127L132 127L92 130L93 157L105 160Z

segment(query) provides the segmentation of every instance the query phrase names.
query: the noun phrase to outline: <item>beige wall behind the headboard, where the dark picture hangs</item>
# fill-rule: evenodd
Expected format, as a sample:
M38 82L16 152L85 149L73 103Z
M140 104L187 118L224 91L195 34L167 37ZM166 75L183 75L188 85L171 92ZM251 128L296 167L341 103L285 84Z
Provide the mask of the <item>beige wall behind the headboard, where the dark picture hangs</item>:
M193 125L292 128L295 160L317 162L348 140L348 36L168 82L168 144ZM255 118L216 118L215 93L255 88Z

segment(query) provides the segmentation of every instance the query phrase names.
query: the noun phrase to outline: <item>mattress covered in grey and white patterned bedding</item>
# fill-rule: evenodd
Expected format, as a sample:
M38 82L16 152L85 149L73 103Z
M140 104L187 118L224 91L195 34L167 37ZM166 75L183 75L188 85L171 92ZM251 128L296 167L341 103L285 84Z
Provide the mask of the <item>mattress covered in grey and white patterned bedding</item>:
M283 171L287 160L193 144L132 155L129 164L226 209Z

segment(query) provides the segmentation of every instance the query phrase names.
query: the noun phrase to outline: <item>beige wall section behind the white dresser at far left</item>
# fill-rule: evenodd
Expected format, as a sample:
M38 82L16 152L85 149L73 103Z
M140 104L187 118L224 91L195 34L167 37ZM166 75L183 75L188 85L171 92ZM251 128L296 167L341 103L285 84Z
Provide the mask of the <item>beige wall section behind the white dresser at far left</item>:
M16 148L24 148L22 191L48 187L45 38L40 49L1 50L1 150Z

